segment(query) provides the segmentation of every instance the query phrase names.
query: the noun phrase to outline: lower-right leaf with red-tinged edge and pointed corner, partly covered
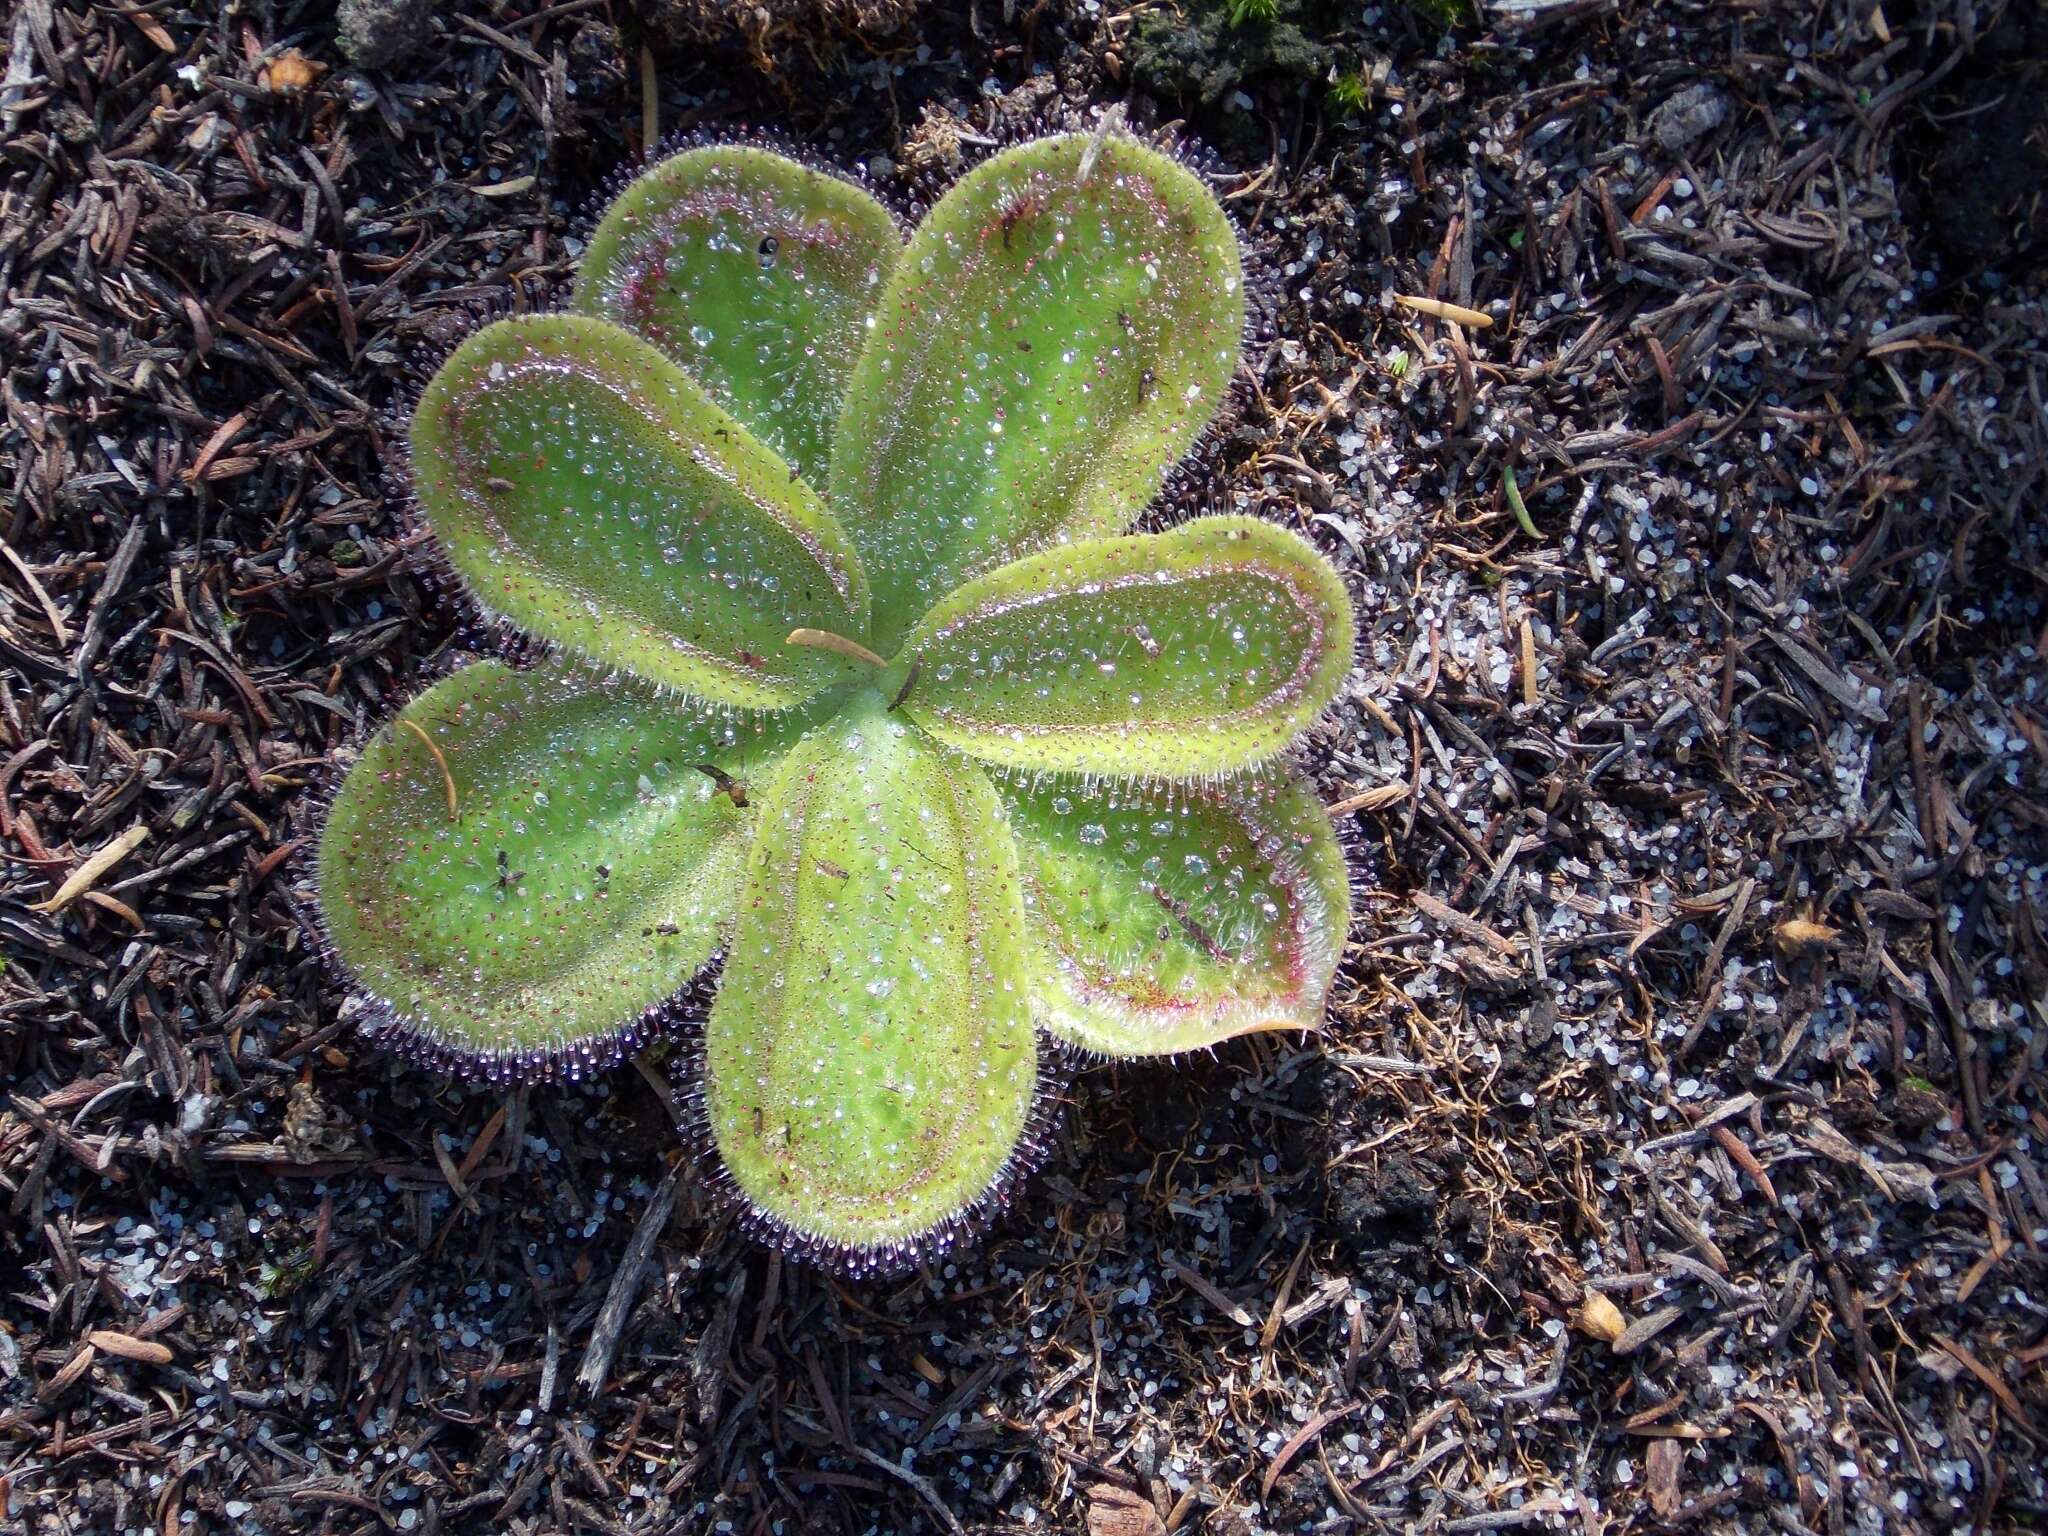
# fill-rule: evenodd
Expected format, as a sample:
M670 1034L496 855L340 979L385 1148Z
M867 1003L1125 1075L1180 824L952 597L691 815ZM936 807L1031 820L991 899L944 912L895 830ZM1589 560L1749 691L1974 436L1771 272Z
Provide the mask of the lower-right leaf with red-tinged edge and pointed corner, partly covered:
M1300 778L1001 795L1047 1030L1147 1057L1323 1022L1350 881Z

